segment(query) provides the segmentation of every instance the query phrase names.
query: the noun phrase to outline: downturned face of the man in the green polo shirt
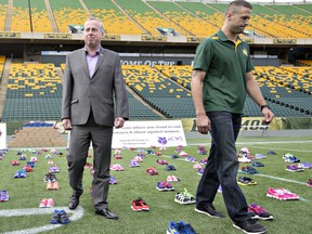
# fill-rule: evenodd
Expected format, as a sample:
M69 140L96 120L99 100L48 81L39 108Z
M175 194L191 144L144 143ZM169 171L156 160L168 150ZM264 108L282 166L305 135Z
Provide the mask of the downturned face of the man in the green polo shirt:
M251 10L248 8L236 8L234 12L229 13L230 30L233 35L242 34L249 25Z

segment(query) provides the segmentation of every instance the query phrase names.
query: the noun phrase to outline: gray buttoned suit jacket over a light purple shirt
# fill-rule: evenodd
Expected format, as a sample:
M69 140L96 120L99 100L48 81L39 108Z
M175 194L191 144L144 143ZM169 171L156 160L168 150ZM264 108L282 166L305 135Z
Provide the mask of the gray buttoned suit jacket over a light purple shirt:
M129 103L119 55L102 47L92 77L83 49L66 56L62 119L69 118L72 125L84 125L91 108L95 122L101 126L114 126L115 117L129 118Z

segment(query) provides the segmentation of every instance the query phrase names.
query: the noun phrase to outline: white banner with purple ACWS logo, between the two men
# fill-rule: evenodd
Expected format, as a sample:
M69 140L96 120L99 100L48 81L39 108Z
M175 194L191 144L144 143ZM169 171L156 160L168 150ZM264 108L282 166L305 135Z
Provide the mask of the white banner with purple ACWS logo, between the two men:
M126 121L114 129L113 148L186 146L181 120Z

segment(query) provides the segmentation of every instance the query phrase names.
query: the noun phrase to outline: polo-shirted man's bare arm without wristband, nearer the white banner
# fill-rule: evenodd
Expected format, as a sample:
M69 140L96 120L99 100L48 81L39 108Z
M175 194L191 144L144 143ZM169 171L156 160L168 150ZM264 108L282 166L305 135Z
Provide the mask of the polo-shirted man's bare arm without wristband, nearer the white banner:
M208 130L211 129L210 120L206 115L204 103L203 103L203 88L202 82L206 77L206 73L203 70L195 69L192 73L191 91L192 98L196 110L196 126L198 132L207 134Z

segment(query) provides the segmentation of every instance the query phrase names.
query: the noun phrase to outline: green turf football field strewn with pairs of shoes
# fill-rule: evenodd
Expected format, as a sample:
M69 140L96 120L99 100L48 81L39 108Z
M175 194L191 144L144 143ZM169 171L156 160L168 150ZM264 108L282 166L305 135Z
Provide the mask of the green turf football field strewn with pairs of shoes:
M207 158L207 155L199 155L196 152L197 146L203 144L209 151L209 139L188 139L187 146L182 150L200 160ZM244 174L239 170L237 177L249 177L257 182L257 185L240 187L248 204L256 203L274 216L273 221L260 221L261 224L268 226L269 233L311 233L312 187L307 186L307 181L312 178L312 169L306 169L302 172L290 172L285 170L289 162L282 159L283 154L289 153L300 158L301 161L312 162L311 143L312 136L292 135L239 138L237 141L237 151L245 146L249 148L251 155L266 155L265 159L260 159L264 167L257 168L259 174ZM65 150L56 150L66 155ZM138 150L122 150L122 159L113 158L113 164L119 164L125 168L125 171L112 171L118 184L110 185L108 195L109 208L119 216L119 220L106 220L94 214L89 194L92 176L90 169L86 168L83 177L84 193L80 197L80 206L75 212L67 210L70 222L64 225L50 224L50 220L54 209L67 209L70 188L66 156L52 155L54 165L60 168L60 172L55 173L60 188L47 191L43 178L51 165L48 164L48 159L44 157L50 152L35 155L29 150L25 150L23 154L27 156L27 159L37 156L38 162L36 162L34 171L27 173L27 178L14 179L16 171L22 169L26 161L22 160L20 166L12 166L11 161L18 159L20 156L17 150L10 150L0 160L0 191L8 191L10 196L8 202L0 203L0 233L160 234L166 233L169 221L178 222L180 220L191 223L200 234L243 233L232 226L222 194L217 194L214 207L225 213L225 219L213 219L197 213L194 211L194 204L180 205L174 203L176 193L182 192L184 188L195 195L200 176L193 168L194 162L188 162L183 157L172 159L171 156L177 154L174 152L176 147L161 151L161 156L148 155L147 150L152 148L144 148L146 157L138 168L129 167L130 160L139 154ZM153 151L157 152L159 148L153 148ZM274 151L276 155L268 155L268 151ZM90 154L92 154L91 151ZM157 159L166 159L177 170L166 171L166 166L156 164ZM88 158L88 162L93 164L92 157ZM250 166L250 164L242 164L239 169L243 166ZM145 171L148 167L155 167L158 174L147 176ZM158 181L166 181L167 176L172 174L180 179L180 182L172 182L176 191L159 192L156 190ZM300 200L277 200L266 197L269 187L287 188L298 194ZM136 197L142 197L151 207L151 210L133 211L130 206ZM55 207L38 208L42 198L53 198Z

